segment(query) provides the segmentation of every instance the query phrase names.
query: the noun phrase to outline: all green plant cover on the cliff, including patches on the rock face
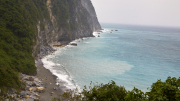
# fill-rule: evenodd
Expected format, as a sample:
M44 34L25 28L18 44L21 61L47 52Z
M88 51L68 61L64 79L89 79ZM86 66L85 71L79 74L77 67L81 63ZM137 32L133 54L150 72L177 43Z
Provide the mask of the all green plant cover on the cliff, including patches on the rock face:
M87 22L89 13L82 7L80 0L51 0L50 6L57 23L55 27L59 30L63 29L65 33L59 40L75 39L78 28L91 33ZM41 45L36 43L37 25L40 22L41 31L45 30L45 26L51 31L54 27L51 20L47 0L0 0L0 89L2 91L20 88L19 72L36 73L34 57L37 56L39 52L37 50L40 50ZM47 37L45 34L44 36ZM47 45L47 42L43 44ZM39 47L33 50L36 45Z

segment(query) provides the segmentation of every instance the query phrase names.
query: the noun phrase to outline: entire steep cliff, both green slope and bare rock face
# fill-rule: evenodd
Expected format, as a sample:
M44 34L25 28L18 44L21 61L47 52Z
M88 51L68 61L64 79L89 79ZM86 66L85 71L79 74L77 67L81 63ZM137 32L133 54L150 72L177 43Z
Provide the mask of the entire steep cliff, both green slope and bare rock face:
M0 0L0 12L0 96L21 89L18 73L36 74L53 45L101 29L90 0Z

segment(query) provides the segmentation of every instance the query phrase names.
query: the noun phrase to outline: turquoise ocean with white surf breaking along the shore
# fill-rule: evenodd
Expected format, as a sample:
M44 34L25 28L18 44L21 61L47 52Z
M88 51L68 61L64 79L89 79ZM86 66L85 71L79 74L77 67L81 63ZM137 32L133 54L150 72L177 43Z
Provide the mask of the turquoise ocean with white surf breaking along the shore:
M100 37L75 40L42 59L63 90L111 80L126 90L148 91L168 76L180 77L180 29L101 24ZM117 31L115 31L117 30Z

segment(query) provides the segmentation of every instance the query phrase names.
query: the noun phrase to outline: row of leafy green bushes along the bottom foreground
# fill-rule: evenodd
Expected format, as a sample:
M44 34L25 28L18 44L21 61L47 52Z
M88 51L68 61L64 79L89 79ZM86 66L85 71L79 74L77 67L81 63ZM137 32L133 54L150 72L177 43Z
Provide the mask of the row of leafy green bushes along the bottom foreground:
M165 82L158 80L151 85L149 92L134 87L127 91L114 81L108 84L85 87L81 94L65 92L53 101L180 101L180 78L168 77Z

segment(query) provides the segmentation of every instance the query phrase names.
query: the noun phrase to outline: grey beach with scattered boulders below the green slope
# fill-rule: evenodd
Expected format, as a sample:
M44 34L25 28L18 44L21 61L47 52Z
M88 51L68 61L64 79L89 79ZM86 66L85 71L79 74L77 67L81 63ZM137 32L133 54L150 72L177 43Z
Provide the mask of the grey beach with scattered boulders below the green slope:
M51 101L54 97L63 94L56 83L57 77L43 67L41 60L36 61L37 75L19 73L19 79L24 84L24 90L17 92L12 89L5 101Z

